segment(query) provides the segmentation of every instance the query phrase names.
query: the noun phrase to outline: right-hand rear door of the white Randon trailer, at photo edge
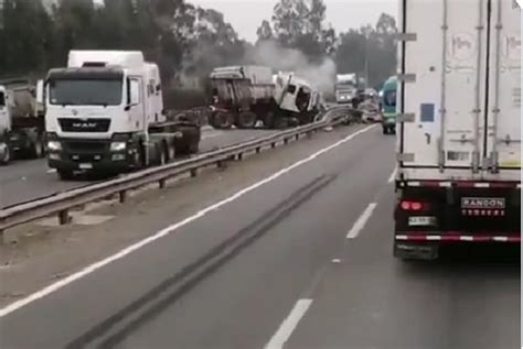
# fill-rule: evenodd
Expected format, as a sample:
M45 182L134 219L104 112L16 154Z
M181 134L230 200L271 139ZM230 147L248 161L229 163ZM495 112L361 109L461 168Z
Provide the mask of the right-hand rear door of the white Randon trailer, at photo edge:
M492 0L489 113L485 157L492 178L520 178L521 9L516 1Z

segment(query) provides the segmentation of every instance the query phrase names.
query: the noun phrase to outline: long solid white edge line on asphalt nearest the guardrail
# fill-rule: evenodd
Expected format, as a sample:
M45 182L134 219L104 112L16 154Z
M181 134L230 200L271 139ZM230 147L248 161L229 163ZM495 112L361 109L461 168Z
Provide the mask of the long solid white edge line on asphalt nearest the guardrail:
M236 194L216 203L216 204L213 204L211 206L207 206L206 208L198 211L196 214L183 219L182 221L179 221L172 226L169 226L160 231L158 231L157 233L143 239L143 240L140 240L127 248L125 248L124 250L119 251L118 253L116 254L113 254L102 261L98 261L96 263L93 263L86 268L84 268L83 270L74 273L74 274L71 274L68 275L67 277L65 279L62 279L44 288L42 288L41 291L38 291L29 296L26 296L25 298L22 298L22 299L19 299L19 301L15 301L9 305L7 305L6 307L1 308L0 309L0 317L3 317L36 299L40 299L42 297L45 297L46 295L53 293L53 292L56 292L58 291L60 288L71 284L72 282L78 280L78 279L82 279L95 271L97 271L98 269L107 265L107 264L110 264L119 259L122 259L124 257L126 257L127 254L130 254L131 252L138 250L138 249L141 249L142 247L145 246L148 246L149 243L152 243L154 242L156 240L159 240L170 233L172 233L173 231L175 231L177 229L180 229L181 227L184 227L186 225L189 225L190 222L192 221L195 221L196 219L218 209L220 207L222 206L225 206L236 199L238 199L239 197L244 196L245 194L249 193L249 192L253 192L257 188L259 188L260 186L267 184L267 183L270 183L279 177L281 177L282 175L289 173L290 171L301 166L301 165L305 165L313 160L316 160L318 156L340 146L340 145L343 145L344 143L351 141L352 139L356 138L357 135L362 134L362 133L365 133L370 130L372 130L373 128L375 128L375 124L373 126L370 126L370 127L366 127L364 129L361 129L360 131L356 131L352 134L349 134L348 137L345 137L344 139L311 154L310 156L306 157L306 159L302 159L296 163L293 163L292 165L286 167L286 168L282 168L280 171L278 171L277 173L270 175L269 177L266 177L265 179L262 179L255 184L252 184L250 186L246 187L246 188L243 188L242 190L237 192Z

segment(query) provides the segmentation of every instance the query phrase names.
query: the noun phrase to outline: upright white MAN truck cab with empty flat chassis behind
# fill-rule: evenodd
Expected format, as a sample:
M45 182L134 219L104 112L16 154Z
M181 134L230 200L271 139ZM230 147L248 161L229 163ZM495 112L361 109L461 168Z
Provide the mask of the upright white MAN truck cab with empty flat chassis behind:
M167 120L158 66L141 52L71 51L46 79L49 165L118 174L198 152L200 127Z

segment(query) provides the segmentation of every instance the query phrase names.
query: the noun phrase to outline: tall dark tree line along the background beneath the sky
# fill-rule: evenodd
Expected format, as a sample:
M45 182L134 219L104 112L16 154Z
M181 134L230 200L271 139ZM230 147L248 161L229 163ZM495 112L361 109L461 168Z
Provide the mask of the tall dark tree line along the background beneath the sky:
M43 76L76 50L139 50L160 65L164 84L183 87L171 103L201 99L215 66L248 64L266 42L297 50L311 64L330 58L339 73L364 72L371 84L394 73L394 18L337 33L323 0L279 0L256 43L241 40L224 15L186 0L0 0L0 76Z

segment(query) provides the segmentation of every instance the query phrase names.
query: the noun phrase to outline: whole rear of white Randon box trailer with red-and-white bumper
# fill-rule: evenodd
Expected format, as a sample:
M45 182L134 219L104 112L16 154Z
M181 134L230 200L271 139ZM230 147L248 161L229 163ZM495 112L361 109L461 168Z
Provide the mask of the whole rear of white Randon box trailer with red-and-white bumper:
M445 244L519 246L521 9L399 2L394 253L434 259Z

